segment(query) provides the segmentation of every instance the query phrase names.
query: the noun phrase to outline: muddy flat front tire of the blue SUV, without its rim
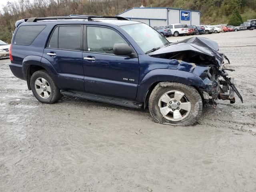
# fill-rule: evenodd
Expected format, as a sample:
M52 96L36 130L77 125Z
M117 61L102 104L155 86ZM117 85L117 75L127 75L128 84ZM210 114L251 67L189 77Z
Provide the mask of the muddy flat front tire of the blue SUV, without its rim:
M168 91L181 91L185 94L188 101L191 103L191 110L186 118L179 121L171 121L166 119L160 112L158 101ZM168 124L172 126L190 126L196 124L202 114L202 98L198 91L192 87L176 82L160 82L152 90L149 98L149 111L153 120L157 123ZM170 108L170 107L169 107Z

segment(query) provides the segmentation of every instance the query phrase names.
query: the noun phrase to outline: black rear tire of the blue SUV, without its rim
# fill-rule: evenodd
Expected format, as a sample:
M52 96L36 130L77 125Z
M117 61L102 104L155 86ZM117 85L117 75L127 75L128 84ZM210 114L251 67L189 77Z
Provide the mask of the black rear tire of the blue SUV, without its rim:
M36 92L36 85L35 82L37 79L44 78L47 81L48 86L50 86L50 96L48 98L42 98L37 92ZM56 86L54 83L52 77L48 74L46 70L39 70L32 74L30 79L30 86L31 90L36 97L36 99L42 103L48 103L52 104L60 100L62 97L62 94L60 93L60 89ZM38 86L39 87L39 86Z

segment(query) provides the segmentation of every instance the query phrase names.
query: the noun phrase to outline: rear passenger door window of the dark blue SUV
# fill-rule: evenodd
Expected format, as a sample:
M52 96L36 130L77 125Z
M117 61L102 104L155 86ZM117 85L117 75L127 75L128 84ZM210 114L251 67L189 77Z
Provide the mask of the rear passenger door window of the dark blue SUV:
M59 26L52 32L48 48L80 50L81 26Z

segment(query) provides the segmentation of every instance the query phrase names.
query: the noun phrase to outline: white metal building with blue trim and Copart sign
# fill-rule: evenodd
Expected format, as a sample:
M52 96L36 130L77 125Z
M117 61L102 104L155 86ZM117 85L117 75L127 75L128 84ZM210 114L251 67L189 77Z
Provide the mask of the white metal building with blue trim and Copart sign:
M152 27L182 23L200 25L200 11L162 7L134 7L116 16L144 22Z

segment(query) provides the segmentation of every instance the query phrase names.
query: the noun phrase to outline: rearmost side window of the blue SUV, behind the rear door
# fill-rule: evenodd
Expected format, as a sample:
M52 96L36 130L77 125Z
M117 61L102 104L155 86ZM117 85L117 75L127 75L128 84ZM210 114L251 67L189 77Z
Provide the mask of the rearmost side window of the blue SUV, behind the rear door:
M45 25L20 26L14 38L15 45L30 45L44 30Z

